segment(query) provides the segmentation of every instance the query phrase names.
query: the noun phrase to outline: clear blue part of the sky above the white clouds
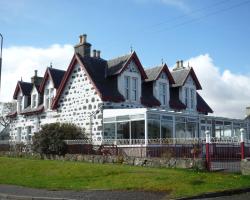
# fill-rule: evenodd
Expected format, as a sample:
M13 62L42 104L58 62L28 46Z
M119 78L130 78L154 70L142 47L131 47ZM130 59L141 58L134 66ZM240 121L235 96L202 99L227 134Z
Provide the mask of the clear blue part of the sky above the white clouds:
M5 47L74 45L87 33L106 58L131 45L145 66L209 53L221 68L249 73L249 10L246 0L1 0L0 32Z

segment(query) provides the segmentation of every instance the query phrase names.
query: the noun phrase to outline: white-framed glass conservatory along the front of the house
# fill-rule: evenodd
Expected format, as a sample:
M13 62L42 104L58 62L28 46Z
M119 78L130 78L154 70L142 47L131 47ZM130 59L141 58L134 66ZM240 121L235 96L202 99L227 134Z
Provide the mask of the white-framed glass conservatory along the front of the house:
M213 138L232 138L240 136L241 128L249 139L246 120L148 108L103 110L103 141L117 145L147 145L170 138L203 139L207 130Z

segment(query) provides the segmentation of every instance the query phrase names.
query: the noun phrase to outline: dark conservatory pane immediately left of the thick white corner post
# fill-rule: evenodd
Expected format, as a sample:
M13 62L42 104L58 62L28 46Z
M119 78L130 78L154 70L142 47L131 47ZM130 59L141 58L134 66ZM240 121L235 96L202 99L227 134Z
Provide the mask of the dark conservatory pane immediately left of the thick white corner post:
M131 121L131 139L145 138L145 121Z

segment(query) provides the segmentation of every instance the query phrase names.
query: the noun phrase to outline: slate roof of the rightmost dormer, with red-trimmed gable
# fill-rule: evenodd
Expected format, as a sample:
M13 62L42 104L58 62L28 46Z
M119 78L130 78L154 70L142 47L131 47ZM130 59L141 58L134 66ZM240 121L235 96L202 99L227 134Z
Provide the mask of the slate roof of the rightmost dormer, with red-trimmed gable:
M174 70L171 72L173 78L174 78L174 81L175 81L175 84L172 85L172 87L180 87L180 86L183 86L188 78L189 75L192 76L195 84L196 84L196 89L197 90L200 90L202 89L201 88L201 84L193 70L193 68L182 68L182 69L177 69L177 70Z

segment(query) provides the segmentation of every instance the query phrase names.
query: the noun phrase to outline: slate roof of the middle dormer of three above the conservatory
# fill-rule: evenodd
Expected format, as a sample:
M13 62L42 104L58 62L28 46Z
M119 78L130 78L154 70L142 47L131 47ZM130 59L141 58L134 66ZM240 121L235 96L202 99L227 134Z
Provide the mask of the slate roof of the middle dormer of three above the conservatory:
M162 65L162 66L156 66L156 67L152 67L149 69L145 70L146 74L147 74L147 79L145 80L146 82L150 82L150 81L155 81L159 78L161 72L165 72L167 74L168 80L171 84L174 84L175 81L170 73L170 71L168 70L168 67L166 64Z

